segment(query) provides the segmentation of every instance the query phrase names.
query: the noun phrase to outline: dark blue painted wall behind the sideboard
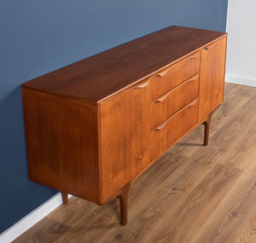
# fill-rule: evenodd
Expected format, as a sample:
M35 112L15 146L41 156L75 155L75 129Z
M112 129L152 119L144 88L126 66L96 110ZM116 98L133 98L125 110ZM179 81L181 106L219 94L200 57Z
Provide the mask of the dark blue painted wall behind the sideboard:
M20 84L166 26L224 31L228 0L1 0L0 233L56 192L28 180Z

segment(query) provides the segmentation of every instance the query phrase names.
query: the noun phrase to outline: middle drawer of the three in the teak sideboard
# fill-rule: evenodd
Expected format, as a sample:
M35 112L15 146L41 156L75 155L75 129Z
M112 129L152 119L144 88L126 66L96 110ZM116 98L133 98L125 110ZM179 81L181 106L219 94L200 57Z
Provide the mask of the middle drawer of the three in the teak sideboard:
M196 73L175 89L161 95L150 104L150 129L161 124L178 110L195 100L199 93L199 74Z

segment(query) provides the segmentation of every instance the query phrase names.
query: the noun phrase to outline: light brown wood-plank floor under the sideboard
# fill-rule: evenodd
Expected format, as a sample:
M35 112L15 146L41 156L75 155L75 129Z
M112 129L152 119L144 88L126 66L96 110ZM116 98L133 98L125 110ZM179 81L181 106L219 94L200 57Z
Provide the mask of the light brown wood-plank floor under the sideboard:
M135 182L129 222L119 201L73 197L14 242L256 242L256 88L225 84L225 101Z

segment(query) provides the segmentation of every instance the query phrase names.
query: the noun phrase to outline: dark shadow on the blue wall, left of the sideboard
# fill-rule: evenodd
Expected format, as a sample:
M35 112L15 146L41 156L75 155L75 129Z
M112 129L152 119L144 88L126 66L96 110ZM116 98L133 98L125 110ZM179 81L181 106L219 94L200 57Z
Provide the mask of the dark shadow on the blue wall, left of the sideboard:
M25 217L56 191L28 179L21 88L0 101L0 232ZM38 193L40 192L40 193ZM4 195L4 196L3 196ZM20 202L20 207L17 204Z

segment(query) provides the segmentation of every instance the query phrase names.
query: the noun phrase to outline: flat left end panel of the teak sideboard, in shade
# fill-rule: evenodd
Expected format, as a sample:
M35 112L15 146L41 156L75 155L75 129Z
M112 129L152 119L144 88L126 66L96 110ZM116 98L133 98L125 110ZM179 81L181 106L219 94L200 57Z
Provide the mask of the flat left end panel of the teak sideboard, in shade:
M29 177L100 203L97 106L22 89Z

